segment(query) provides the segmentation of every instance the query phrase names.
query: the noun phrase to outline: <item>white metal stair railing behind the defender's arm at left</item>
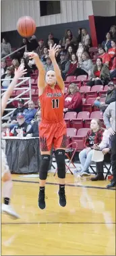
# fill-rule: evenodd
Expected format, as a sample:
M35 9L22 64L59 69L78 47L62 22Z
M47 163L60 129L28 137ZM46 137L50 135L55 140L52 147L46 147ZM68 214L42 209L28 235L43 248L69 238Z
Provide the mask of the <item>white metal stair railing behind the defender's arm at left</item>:
M1 81L4 81L4 80L13 80L12 79L1 79ZM16 84L16 87L13 89L13 91L20 91L20 90L24 90L24 92L20 93L19 95L16 95L16 97L13 97L12 99L10 98L8 101L7 101L7 105L9 105L9 103L12 103L13 101L18 101L18 99L20 99L20 97L22 97L23 95L25 95L26 93L29 92L29 97L22 97L22 99L26 100L26 102L24 103L24 105L28 104L28 102L32 99L32 94L31 94L31 78L30 77L27 77L27 78L19 78L18 80L21 80L21 82L18 82L18 84ZM26 84L27 86L23 86L23 87L20 87L19 86L21 84L24 84L24 82L28 81L29 83ZM3 93L2 93L3 91ZM3 97L5 91L7 91L7 88L1 88L1 97ZM11 95L12 96L12 95ZM3 116L1 118L1 120L6 120L9 116L11 116L11 113L13 113L13 111L15 110L16 108L5 108L4 110L5 111L9 111L9 113L7 113L5 116Z

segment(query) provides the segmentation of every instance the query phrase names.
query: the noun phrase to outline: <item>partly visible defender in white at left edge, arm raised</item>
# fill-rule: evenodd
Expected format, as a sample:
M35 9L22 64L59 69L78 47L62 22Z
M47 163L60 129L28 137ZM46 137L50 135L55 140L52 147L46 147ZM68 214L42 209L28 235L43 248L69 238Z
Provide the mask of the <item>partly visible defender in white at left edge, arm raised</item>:
M18 68L18 70L15 70L15 76L1 99L1 116L3 116L3 111L7 105L7 101L18 82L18 79L22 77L24 74L26 74L26 70L22 70L21 66ZM20 216L16 213L16 211L12 209L10 205L11 190L13 185L11 181L11 173L9 171L9 166L7 165L7 159L5 157L3 149L1 149L1 180L3 181L3 203L1 205L1 212L7 213L11 217L17 219Z

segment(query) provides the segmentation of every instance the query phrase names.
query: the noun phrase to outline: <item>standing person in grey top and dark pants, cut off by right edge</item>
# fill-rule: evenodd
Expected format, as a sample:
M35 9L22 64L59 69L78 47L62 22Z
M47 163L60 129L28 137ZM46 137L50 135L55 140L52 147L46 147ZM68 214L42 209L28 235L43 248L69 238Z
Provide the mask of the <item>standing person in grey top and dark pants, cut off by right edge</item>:
M113 180L111 184L107 186L107 188L112 188L116 186L116 116L115 116L115 102L109 104L105 113L103 114L103 120L105 122L105 126L111 135L111 165L113 172ZM112 119L112 122L110 120Z

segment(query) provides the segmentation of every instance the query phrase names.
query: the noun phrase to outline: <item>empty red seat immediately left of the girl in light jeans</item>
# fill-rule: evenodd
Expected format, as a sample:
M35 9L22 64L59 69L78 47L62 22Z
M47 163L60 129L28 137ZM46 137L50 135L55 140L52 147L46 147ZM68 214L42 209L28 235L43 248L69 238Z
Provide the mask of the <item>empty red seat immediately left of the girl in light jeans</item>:
M73 136L71 138L72 143L74 143L74 142L78 143L78 151L82 151L82 149L84 149L85 136L86 136L88 130L90 130L90 129L88 129L88 128L79 129L77 132L77 135Z

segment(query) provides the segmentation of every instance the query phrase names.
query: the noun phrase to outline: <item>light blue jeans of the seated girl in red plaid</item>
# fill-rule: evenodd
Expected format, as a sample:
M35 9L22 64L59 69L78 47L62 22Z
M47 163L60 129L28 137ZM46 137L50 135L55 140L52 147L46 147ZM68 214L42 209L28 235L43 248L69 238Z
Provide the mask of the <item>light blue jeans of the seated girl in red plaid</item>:
M93 154L93 149L89 151L88 154L86 149L83 149L79 153L79 159L82 165L82 172L88 171L88 168L90 167L90 163L92 161L92 154Z

